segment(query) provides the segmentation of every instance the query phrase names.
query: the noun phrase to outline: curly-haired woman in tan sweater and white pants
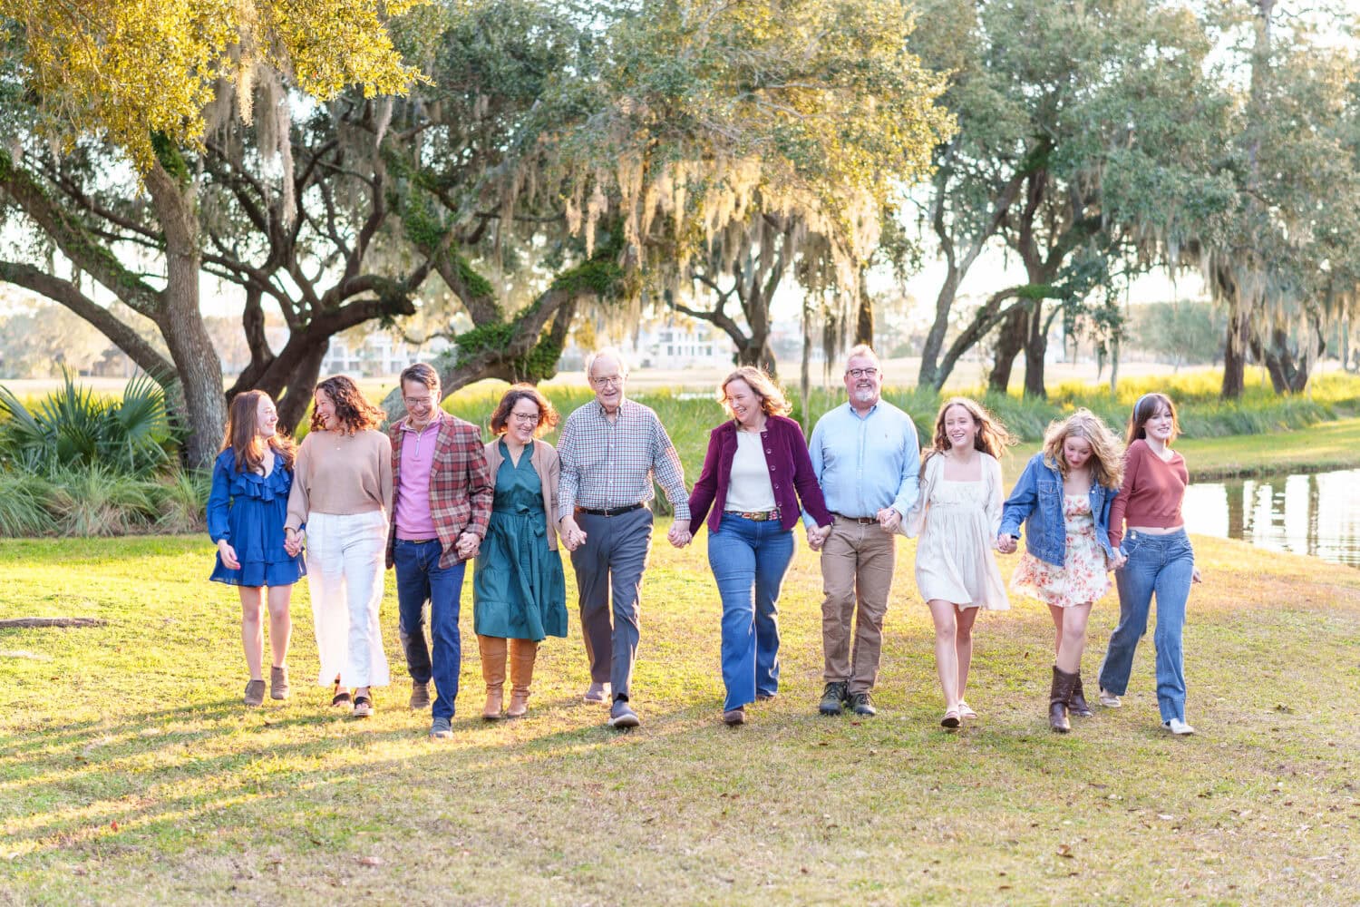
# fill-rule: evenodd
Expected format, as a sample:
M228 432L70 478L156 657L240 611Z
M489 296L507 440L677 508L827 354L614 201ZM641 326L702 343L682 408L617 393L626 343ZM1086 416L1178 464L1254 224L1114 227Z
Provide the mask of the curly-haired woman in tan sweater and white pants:
M367 718L371 688L390 681L378 606L392 511L392 442L375 431L382 411L350 378L326 378L314 401L288 494L286 544L292 552L307 545L317 683L335 683L332 706L352 704L355 718Z

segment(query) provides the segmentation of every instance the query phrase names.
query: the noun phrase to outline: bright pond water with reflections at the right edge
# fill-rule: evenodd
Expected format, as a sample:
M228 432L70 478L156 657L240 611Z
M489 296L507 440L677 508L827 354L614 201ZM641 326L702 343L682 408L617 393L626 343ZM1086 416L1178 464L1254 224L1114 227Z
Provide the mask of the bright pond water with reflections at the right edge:
M1186 529L1360 567L1360 469L1194 483Z

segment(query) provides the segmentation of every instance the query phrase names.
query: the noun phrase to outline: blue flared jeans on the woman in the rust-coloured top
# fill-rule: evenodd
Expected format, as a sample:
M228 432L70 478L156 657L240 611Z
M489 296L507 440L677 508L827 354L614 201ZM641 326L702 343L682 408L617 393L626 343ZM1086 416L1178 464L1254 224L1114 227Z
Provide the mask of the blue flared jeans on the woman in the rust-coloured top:
M1194 549L1185 530L1166 536L1130 532L1119 548L1129 562L1115 571L1119 589L1119 626L1110 634L1110 647L1100 662L1100 687L1117 696L1129 689L1133 653L1148 631L1152 596L1157 597L1157 704L1161 721L1186 717L1186 674L1180 634L1186 624L1186 600L1194 572Z

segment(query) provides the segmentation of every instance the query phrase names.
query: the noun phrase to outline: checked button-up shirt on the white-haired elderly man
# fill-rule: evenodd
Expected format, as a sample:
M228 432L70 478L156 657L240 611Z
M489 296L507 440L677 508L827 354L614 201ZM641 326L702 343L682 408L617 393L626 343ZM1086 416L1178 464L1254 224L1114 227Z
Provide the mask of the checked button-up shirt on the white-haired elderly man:
M619 401L613 422L597 400L581 407L562 427L558 457L558 519L577 507L612 510L646 503L656 496L653 476L670 499L676 519L690 518L680 456L657 413L641 403Z

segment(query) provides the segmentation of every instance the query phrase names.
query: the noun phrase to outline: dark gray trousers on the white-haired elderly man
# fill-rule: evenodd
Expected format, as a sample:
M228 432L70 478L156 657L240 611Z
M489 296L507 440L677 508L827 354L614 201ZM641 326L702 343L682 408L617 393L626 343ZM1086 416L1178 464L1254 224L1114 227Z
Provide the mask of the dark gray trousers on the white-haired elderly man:
M638 658L642 571L651 551L651 511L638 507L617 517L577 511L575 517L586 533L585 544L571 552L571 566L581 593L581 635L590 660L590 680L608 681L615 698L628 698L632 664Z

